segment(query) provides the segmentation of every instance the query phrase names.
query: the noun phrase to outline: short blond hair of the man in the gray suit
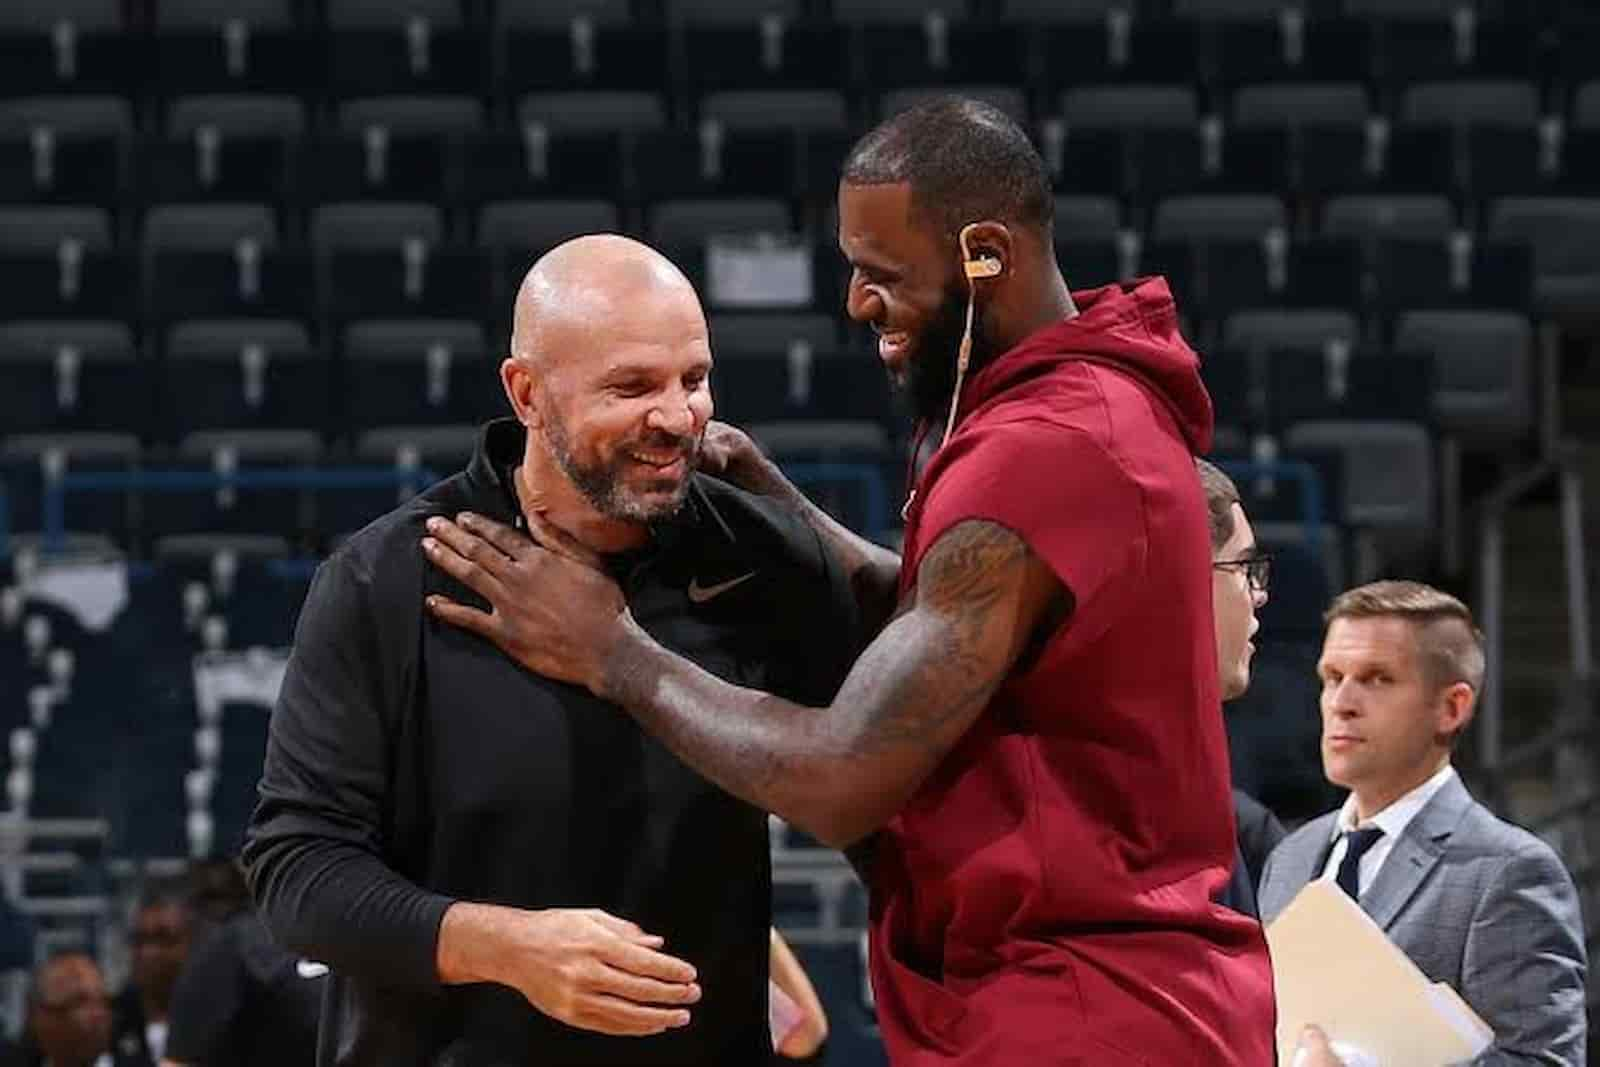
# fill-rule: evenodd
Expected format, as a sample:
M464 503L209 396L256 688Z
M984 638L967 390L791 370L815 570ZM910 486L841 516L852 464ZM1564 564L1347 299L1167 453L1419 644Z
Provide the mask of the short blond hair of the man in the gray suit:
M1435 689L1458 681L1483 691L1483 632L1472 609L1422 582L1370 582L1339 593L1323 622L1336 619L1405 619L1416 635L1422 670Z

